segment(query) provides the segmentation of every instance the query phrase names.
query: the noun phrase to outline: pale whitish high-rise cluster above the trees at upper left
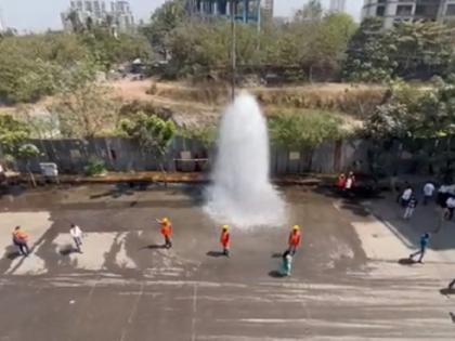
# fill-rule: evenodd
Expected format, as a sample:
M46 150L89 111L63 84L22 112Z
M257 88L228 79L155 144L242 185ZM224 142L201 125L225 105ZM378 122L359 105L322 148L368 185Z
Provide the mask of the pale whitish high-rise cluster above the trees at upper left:
M75 16L73 19L70 16ZM95 25L108 24L114 32L128 32L135 28L134 16L128 1L112 1L108 8L104 0L72 0L69 9L61 14L65 30L72 30L76 18L82 25L91 21Z

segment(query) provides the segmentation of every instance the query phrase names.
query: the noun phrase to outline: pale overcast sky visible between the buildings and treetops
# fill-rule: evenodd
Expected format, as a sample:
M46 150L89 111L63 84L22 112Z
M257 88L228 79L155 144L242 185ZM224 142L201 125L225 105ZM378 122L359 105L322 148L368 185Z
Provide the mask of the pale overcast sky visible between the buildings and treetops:
M289 16L296 9L300 9L308 0L275 0L275 15ZM109 2L109 1L106 1ZM130 0L135 17L147 19L151 12L165 0ZM322 0L328 6L329 0ZM363 0L347 1L348 11L356 19ZM69 6L69 0L0 0L0 15L2 22L21 31L46 30L62 28L60 13Z

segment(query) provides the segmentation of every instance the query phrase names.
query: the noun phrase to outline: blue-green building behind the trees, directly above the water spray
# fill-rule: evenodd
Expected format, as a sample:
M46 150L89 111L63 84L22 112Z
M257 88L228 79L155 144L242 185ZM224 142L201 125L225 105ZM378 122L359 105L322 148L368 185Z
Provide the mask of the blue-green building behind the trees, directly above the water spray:
M270 2L270 1L269 1ZM231 17L229 0L187 0L186 10L192 16ZM235 0L233 15L243 23L258 23L261 18L261 0Z

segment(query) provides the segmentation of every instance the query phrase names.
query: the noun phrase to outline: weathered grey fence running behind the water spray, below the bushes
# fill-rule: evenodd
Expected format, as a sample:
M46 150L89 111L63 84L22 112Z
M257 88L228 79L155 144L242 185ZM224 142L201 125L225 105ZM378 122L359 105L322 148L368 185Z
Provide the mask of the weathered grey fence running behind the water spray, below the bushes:
M55 162L61 173L81 173L90 158L103 159L109 171L154 171L159 170L155 157L140 150L130 140L104 137L89 140L32 140L42 156L32 160L31 168L39 172L39 162ZM325 143L314 150L286 150L271 148L272 175L299 174L304 172L335 173L351 169L353 165L366 165L367 145L362 141ZM176 161L182 152L191 152L192 158L209 158L207 165L199 162L199 170L209 170L214 159L214 150L207 150L193 140L176 137L165 157L168 171L195 171L196 163ZM297 152L297 154L296 154ZM294 158L290 158L290 153ZM297 157L297 158L296 158ZM24 165L18 165L24 169Z

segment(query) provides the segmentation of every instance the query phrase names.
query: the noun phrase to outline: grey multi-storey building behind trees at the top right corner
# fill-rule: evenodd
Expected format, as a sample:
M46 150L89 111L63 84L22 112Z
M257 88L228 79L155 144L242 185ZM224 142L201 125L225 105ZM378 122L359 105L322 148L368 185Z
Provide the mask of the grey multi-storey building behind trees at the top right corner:
M362 18L384 18L385 27L401 21L455 19L455 0L365 0Z

